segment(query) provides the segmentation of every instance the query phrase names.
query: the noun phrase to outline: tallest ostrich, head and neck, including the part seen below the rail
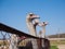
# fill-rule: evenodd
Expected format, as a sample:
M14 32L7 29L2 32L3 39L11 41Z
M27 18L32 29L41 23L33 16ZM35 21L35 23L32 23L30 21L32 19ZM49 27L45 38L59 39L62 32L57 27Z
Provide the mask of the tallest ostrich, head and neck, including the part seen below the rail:
M26 17L27 27L29 29L30 35L32 36L37 36L36 26L38 23L37 22L35 24L32 23L35 19L39 19L39 16L35 15L34 13L29 13ZM31 39L31 44L32 44L32 49L38 49L36 39Z

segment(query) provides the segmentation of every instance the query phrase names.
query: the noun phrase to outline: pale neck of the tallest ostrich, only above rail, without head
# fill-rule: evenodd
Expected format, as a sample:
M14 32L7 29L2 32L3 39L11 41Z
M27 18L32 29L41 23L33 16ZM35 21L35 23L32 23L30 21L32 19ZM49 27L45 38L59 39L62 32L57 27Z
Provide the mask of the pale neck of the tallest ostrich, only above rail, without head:
M36 36L36 28L35 28L35 26L32 24L32 21L29 20L29 19L26 19L26 24L27 24L29 34L32 35L32 36Z

